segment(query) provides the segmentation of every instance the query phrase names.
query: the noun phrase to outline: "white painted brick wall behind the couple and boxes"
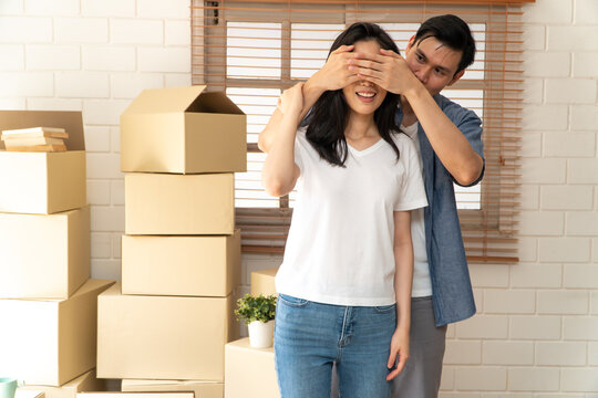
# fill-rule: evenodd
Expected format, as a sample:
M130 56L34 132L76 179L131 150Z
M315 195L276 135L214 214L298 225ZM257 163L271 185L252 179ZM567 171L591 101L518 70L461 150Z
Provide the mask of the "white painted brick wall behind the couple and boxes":
M0 107L83 112L94 277L120 277L118 116L190 84L188 7L0 1ZM478 314L448 328L442 397L598 398L598 1L523 10L520 263L471 265ZM237 294L279 263L244 255Z

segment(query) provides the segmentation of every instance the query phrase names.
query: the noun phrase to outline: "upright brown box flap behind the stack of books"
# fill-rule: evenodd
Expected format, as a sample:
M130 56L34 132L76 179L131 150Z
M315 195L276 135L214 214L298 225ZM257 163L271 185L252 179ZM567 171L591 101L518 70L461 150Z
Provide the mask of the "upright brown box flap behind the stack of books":
M0 130L30 127L61 127L69 133L64 142L69 150L85 150L81 112L65 111L0 111ZM4 144L0 142L0 149Z

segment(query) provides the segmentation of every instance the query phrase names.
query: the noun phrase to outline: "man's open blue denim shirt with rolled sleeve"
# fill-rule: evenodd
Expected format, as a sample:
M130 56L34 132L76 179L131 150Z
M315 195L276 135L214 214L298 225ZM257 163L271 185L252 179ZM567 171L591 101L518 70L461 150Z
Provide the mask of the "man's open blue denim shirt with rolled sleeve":
M440 108L463 133L472 148L484 158L482 121L476 114L448 98L434 97ZM403 113L396 112L401 125ZM423 164L424 186L429 206L424 208L425 245L432 279L432 301L436 326L468 318L475 314L475 302L461 234L453 182L456 180L444 168L432 149L420 124L417 137ZM471 186L480 182L480 178Z

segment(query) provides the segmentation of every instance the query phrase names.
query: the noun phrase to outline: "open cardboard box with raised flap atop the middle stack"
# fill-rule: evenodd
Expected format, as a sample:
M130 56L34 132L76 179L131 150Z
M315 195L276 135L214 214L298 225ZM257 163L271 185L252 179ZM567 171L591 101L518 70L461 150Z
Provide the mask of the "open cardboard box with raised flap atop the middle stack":
M121 168L150 172L246 171L247 122L205 85L144 90L121 115Z

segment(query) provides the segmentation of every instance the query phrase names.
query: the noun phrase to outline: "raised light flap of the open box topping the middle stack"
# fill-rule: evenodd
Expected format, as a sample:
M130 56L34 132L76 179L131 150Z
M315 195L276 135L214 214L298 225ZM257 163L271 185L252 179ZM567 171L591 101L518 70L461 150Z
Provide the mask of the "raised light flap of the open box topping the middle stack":
M205 85L197 85L144 90L133 100L123 115L185 112L205 88Z

